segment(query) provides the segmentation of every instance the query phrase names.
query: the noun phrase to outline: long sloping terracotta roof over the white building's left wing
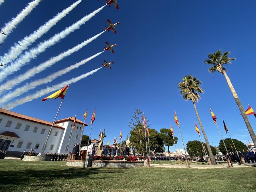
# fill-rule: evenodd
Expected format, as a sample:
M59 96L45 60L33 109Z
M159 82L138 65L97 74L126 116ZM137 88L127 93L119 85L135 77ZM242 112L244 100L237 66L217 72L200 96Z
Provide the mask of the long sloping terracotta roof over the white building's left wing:
M52 122L44 121L44 120L37 119L37 118L34 118L34 117L29 117L27 115L22 115L22 114L15 113L15 112L12 112L12 111L8 111L8 110L2 109L2 108L0 108L0 114L12 116L12 117L15 117L15 118L19 118L19 119L23 119L23 120L27 120L27 121L31 121L31 122L35 122L35 123L40 123L40 124L43 124L43 125L52 126ZM54 123L54 127L60 128L60 129L65 129L64 127L62 127L60 125L57 125L56 123Z

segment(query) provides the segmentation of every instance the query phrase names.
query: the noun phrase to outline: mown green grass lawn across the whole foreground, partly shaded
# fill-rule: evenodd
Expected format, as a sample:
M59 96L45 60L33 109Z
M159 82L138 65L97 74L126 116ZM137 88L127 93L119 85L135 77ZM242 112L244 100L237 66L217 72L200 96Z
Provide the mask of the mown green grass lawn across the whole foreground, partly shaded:
M255 167L72 168L66 162L0 160L0 191L255 191Z

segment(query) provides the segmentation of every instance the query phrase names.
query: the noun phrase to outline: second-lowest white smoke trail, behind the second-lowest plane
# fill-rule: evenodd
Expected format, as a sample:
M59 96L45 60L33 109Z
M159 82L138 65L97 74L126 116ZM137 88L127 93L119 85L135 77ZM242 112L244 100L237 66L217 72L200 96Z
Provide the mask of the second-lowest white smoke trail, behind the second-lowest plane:
M42 79L38 79L35 81L32 81L31 83L26 83L25 85L23 85L22 87L19 87L17 89L15 89L14 91L4 95L2 98L0 98L0 103L5 103L9 100L11 100L12 98L18 97L19 95L28 92L31 89L34 89L35 87L45 84L45 83L50 83L51 81L53 81L54 79L56 79L57 77L60 77L63 74L66 74L67 72L71 71L72 69L75 69L85 63L87 63L88 61L92 60L93 58L97 57L98 55L100 55L102 52L99 52L95 55L92 55L91 57L88 57L87 59L84 59L74 65L71 65L69 67L66 67L65 69L59 70L53 74L48 75L45 78Z

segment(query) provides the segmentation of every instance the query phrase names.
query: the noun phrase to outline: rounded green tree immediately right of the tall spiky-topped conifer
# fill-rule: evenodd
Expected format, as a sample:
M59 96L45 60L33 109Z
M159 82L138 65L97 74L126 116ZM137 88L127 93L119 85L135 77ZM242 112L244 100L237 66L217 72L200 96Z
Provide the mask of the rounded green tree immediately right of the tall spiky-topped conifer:
M155 153L162 153L165 151L164 148L164 141L160 137L159 132L157 132L155 129L149 128L149 147L150 151L154 151Z

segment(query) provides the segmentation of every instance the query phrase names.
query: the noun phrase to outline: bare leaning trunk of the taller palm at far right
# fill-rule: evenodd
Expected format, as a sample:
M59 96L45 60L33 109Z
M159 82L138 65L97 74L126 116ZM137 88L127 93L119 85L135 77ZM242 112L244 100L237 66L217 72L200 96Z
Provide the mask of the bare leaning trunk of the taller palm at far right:
M239 108L240 111L241 111L241 114L242 114L242 117L243 117L243 119L244 119L245 125L246 125L246 127L247 127L247 129L248 129L248 131L249 131L249 134L251 135L252 142L253 142L254 145L255 145L255 143L256 143L256 136L255 136L255 133L254 133L254 131L253 131L253 129L252 129L252 126L251 126L251 124L250 124L250 122L249 122L249 119L248 119L248 117L246 116L246 114L245 114L245 112L244 112L244 108L243 108L243 106L242 106L242 104L241 104L241 101L240 101L240 99L238 98L237 93L235 92L235 89L234 89L234 87L233 87L233 85L232 85L232 83L231 83L229 77L228 77L227 74L226 74L226 71L222 70L222 73L223 73L224 77L226 78L226 81L227 81L227 84L228 84L228 86L229 86L229 89L230 89L230 91L231 91L231 93L232 93L232 95L233 95L233 97L234 97L234 99L235 99L235 102L237 103L238 108Z

